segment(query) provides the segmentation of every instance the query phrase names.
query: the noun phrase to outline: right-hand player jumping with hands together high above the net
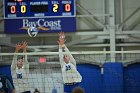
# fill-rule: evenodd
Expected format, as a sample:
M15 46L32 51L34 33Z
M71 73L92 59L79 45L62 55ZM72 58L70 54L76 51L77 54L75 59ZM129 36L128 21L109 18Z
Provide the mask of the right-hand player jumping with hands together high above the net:
M65 84L74 84L82 81L82 76L77 71L76 61L69 49L66 47L65 43L65 35L63 32L59 33L59 60L62 69L63 81ZM63 54L64 52L66 54Z

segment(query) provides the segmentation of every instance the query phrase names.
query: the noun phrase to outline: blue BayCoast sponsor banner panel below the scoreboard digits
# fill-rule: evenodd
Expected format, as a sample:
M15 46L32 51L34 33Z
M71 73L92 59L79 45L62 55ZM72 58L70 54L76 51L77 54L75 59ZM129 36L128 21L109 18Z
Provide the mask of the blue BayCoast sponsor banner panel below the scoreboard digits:
M6 34L25 34L28 31L37 33L75 32L76 18L33 18L33 19L5 19ZM28 33L29 34L29 33Z

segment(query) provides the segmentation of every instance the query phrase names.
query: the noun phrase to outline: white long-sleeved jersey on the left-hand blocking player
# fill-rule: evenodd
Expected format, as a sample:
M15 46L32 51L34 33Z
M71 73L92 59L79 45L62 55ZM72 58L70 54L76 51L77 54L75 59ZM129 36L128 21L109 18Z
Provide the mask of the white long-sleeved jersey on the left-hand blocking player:
M29 64L26 57L23 60L23 67L18 69L17 56L16 55L14 56L11 65L11 74L16 89L16 93L29 91L29 83L28 83Z

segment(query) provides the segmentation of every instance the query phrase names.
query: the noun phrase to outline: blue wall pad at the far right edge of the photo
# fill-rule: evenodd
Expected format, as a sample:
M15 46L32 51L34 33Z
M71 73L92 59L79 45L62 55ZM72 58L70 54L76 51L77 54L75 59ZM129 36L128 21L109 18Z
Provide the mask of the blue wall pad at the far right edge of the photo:
M124 93L140 93L140 64L124 69Z

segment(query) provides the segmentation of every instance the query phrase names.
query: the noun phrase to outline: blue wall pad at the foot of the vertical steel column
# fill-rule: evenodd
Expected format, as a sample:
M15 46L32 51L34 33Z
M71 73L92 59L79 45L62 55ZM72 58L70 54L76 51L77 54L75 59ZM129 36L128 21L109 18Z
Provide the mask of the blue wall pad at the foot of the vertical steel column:
M104 64L103 88L103 93L123 93L122 63Z

